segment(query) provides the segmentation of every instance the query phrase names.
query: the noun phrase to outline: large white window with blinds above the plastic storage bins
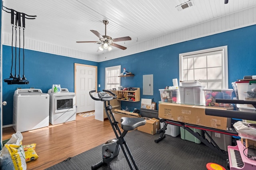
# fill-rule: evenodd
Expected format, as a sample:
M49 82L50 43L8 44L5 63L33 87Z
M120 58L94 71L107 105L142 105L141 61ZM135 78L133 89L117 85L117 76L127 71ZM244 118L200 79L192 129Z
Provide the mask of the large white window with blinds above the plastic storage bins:
M228 89L228 47L182 53L180 80L198 80L208 89Z

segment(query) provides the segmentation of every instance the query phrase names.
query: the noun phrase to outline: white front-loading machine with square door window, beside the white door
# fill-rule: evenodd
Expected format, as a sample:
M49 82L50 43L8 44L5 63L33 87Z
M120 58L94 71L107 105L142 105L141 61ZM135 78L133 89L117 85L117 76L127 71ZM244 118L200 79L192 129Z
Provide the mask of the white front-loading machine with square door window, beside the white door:
M48 90L50 95L50 123L52 125L76 120L76 94L69 92L67 88L60 88L60 92L54 93Z

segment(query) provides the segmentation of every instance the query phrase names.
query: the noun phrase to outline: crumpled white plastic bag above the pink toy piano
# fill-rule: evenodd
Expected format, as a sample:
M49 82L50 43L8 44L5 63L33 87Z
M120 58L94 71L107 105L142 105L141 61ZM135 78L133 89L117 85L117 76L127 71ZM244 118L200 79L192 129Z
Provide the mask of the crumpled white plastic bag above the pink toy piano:
M249 124L250 123L237 121L233 126L236 129L238 136L241 138L256 141L256 129L249 127Z

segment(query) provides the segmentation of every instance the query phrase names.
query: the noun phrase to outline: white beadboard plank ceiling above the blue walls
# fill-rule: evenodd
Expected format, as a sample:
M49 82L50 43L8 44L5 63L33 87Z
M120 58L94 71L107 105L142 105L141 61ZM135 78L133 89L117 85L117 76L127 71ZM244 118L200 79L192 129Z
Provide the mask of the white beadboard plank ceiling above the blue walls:
M3 6L36 15L26 19L25 37L84 53L99 55L98 41L90 30L112 38L130 36L116 44L131 47L174 31L256 6L256 0L194 0L194 6L178 11L188 0L4 0ZM6 8L4 8L6 10ZM9 10L7 10L9 11ZM12 33L10 13L2 13L2 31ZM113 50L109 53L117 50ZM127 49L126 49L127 50Z

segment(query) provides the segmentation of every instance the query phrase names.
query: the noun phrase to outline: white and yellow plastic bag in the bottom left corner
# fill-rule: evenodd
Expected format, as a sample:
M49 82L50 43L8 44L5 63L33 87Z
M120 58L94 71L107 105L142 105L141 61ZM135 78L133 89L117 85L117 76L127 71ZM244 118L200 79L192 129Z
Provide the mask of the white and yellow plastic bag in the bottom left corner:
M26 170L25 152L22 146L22 134L17 131L0 152L0 170Z

